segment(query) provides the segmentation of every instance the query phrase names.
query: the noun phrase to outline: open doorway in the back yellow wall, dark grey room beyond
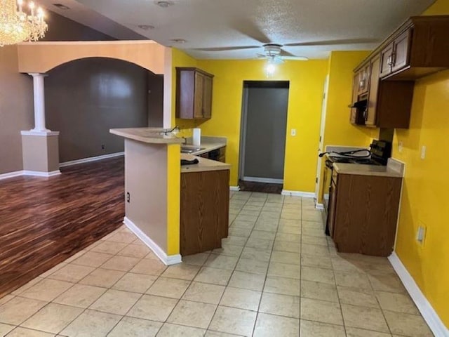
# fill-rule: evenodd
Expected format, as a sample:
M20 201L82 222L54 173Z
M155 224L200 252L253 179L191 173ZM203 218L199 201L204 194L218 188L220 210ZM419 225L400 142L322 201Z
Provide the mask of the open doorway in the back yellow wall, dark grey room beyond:
M244 81L239 185L281 192L288 110L288 81ZM259 188L257 188L257 186ZM274 188L277 187L277 188Z

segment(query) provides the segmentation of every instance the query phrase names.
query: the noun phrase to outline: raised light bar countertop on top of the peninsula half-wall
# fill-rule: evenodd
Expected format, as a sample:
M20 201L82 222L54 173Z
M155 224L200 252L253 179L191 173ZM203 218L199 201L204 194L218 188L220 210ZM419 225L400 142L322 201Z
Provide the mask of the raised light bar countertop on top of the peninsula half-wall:
M170 134L164 135L161 133L162 130L162 128L112 128L109 132L148 144L182 144L185 142L184 138L177 138Z

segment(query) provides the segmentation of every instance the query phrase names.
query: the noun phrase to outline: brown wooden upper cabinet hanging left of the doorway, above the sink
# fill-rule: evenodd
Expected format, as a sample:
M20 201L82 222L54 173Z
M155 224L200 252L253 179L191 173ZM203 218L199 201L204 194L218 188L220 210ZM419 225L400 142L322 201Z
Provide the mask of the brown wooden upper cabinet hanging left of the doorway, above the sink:
M210 119L213 75L198 68L176 68L176 117Z

